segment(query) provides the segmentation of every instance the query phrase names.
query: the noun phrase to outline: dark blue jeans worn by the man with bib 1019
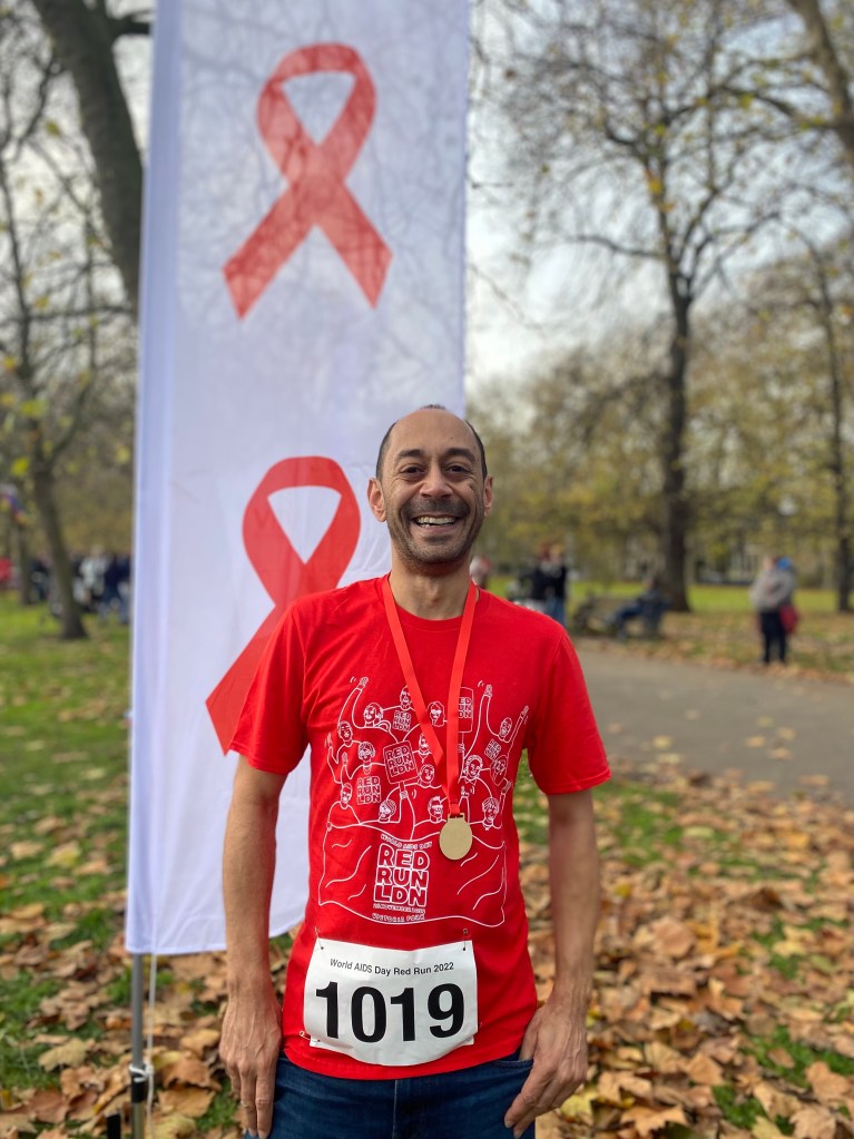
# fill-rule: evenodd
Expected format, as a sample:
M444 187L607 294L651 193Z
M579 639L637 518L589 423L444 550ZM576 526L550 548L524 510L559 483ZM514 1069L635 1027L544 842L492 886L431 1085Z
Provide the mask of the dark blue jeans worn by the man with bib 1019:
M346 1080L276 1071L270 1139L512 1139L504 1114L533 1060L508 1057L441 1075ZM534 1139L534 1125L523 1139Z

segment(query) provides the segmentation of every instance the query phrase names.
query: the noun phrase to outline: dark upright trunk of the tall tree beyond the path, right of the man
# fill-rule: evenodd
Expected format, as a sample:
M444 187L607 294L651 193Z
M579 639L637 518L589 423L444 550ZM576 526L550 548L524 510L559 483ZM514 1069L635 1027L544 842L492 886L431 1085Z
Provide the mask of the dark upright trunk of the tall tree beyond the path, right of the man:
M685 582L688 532L691 524L685 497L684 436L688 416L685 380L688 374L688 314L690 300L682 296L679 281L671 281L674 329L671 360L665 384L665 423L662 434L662 560L664 585L676 613L690 612Z

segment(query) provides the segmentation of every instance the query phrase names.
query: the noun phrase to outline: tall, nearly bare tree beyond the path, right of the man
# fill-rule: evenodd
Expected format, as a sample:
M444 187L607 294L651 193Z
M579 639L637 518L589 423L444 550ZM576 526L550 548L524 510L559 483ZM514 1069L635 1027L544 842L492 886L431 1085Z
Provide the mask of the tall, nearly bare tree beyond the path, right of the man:
M648 398L658 409L660 560L685 608L695 308L746 262L787 197L807 207L793 172L781 173L783 158L797 167L799 156L788 123L750 97L755 21L739 0L512 7L506 110L532 237L603 249L611 293L625 284L616 262L640 268L634 295L646 292L657 322Z

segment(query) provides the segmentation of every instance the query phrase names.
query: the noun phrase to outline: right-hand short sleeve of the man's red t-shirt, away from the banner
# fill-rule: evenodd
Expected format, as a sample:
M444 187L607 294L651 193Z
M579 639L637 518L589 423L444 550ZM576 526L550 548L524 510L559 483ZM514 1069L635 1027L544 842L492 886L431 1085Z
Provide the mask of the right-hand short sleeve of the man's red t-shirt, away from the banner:
M528 767L545 795L565 795L610 778L581 663L567 636L543 662L528 732Z

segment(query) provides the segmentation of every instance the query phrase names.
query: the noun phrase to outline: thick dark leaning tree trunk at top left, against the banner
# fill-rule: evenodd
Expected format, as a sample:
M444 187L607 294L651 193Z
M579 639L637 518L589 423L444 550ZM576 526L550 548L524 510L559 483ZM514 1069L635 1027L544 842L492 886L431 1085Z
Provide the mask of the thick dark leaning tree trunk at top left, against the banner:
M142 161L113 55L109 23L84 0L33 0L77 91L95 161L101 212L128 298L137 310L142 228Z

